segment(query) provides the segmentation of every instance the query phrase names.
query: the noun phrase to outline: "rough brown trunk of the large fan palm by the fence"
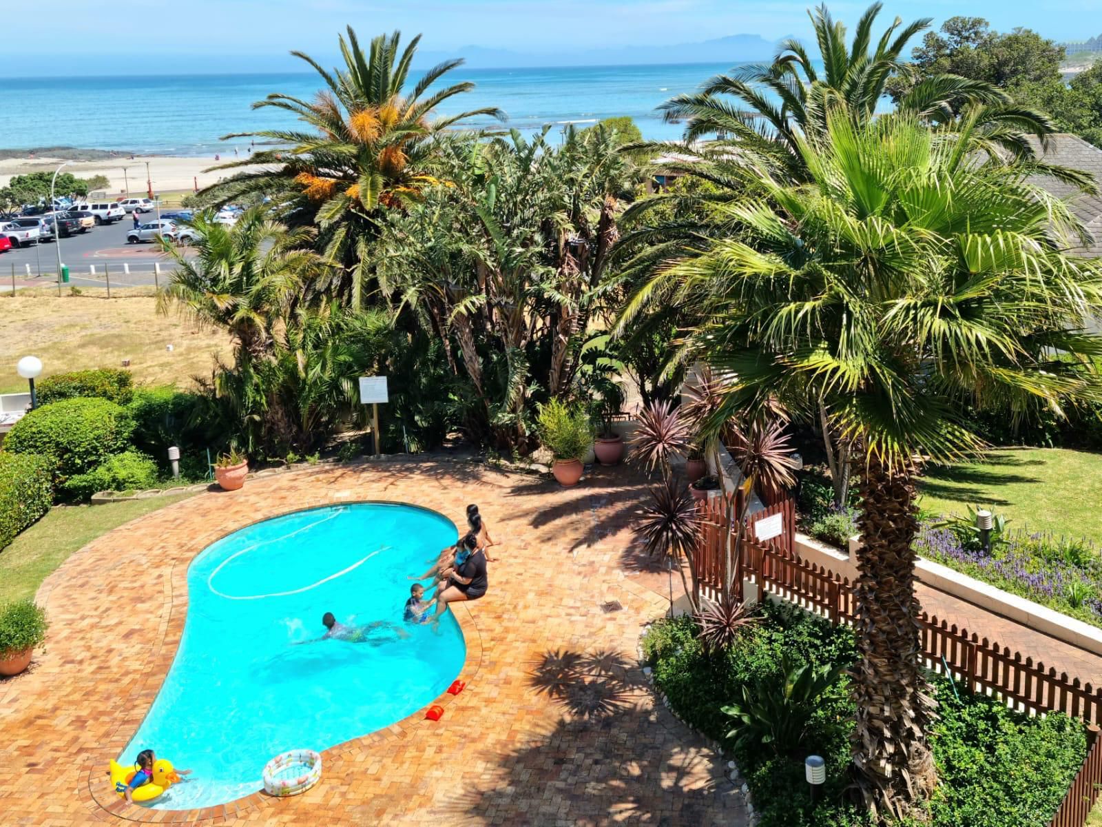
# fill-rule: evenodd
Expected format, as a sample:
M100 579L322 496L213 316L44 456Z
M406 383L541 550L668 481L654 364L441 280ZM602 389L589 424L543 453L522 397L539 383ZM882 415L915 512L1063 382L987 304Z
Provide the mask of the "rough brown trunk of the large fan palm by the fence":
M911 546L918 533L914 469L868 458L857 517L862 547L854 588L858 660L851 675L857 721L852 737L857 784L866 804L905 814L936 782L919 647Z

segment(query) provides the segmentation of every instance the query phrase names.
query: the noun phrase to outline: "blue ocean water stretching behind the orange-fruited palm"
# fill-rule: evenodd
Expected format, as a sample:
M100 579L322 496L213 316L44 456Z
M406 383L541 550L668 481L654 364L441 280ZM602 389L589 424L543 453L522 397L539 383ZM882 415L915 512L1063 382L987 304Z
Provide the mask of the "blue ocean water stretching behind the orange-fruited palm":
M725 64L575 66L562 68L466 69L445 76L472 80L474 92L445 101L449 115L497 106L506 126L552 130L565 121L580 127L602 118L629 115L652 140L674 140L683 126L665 123L656 107L680 93L698 89ZM410 87L420 77L411 73ZM442 85L443 80L437 82ZM295 128L291 112L250 108L269 93L310 99L324 86L314 73L256 75L158 75L138 68L126 77L0 78L4 117L0 149L76 147L142 153L241 154L248 139L219 138L230 132ZM469 121L493 126L490 118Z

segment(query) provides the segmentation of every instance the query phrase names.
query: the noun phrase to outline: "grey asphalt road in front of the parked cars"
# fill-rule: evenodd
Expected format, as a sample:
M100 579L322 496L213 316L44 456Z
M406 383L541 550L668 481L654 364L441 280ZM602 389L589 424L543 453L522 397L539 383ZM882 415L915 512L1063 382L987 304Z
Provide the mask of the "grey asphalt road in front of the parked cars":
M153 213L142 215L142 222L155 219ZM172 267L155 244L127 244L127 233L132 227L133 222L127 216L121 222L98 225L87 233L62 238L62 264L69 268L69 283L102 286L109 275L111 287L152 284L154 262L161 264L162 275L168 273ZM56 246L55 241L47 240L0 254L0 290L11 289L13 268L17 288L56 283Z

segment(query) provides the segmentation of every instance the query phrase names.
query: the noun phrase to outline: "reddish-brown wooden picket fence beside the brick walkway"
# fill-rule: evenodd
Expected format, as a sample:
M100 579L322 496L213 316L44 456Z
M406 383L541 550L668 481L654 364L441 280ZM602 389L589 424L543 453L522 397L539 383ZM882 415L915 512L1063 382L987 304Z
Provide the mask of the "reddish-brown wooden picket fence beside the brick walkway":
M731 503L713 497L700 504L701 526L695 551L701 590L715 598L722 589L723 558L727 514ZM734 505L737 505L734 504ZM755 539L755 524L776 514L782 515L784 530L766 541ZM759 592L802 606L832 623L853 624L856 605L849 579L830 569L806 562L795 551L796 512L791 500L770 505L752 515L741 544L741 578L734 584L741 599L743 580ZM1056 816L1048 827L1083 827L1102 785L1102 687L1057 674L1041 662L1011 652L997 641L958 629L937 616L922 613L919 619L922 657L939 674L949 674L958 684L973 691L998 695L1013 709L1030 715L1060 711L1082 719L1088 726L1087 760L1076 775Z

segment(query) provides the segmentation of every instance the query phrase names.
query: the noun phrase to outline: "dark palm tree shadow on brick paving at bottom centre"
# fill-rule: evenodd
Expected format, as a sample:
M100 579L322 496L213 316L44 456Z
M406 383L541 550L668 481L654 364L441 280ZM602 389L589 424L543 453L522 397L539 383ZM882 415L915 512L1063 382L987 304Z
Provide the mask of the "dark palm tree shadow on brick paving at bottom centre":
M529 685L563 715L496 759L447 818L509 825L746 824L722 761L660 708L613 651L547 652ZM668 720L663 720L663 717Z

